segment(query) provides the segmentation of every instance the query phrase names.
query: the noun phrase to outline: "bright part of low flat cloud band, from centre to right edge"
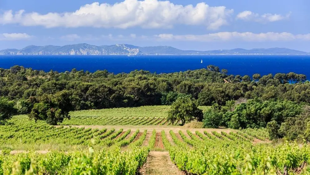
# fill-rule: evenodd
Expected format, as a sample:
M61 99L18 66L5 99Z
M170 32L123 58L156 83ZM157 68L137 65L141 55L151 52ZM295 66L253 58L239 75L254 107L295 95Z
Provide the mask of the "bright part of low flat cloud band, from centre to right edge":
M153 36L157 40L177 40L177 41L292 41L292 40L308 40L310 34L294 35L288 32L276 33L252 33L252 32L218 32L206 35L173 35L159 34Z

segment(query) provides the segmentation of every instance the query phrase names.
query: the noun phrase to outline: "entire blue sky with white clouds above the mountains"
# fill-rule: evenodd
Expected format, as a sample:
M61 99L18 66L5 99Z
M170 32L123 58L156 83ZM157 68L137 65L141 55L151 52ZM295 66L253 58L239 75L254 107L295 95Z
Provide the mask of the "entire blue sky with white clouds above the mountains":
M0 0L0 49L133 44L310 52L309 0Z

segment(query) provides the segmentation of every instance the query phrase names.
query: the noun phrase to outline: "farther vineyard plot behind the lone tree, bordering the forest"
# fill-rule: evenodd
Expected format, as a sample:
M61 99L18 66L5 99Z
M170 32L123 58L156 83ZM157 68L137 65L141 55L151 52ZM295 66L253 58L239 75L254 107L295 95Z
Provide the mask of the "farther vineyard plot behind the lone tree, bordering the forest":
M199 107L205 110L206 106ZM100 110L73 111L71 119L61 125L159 125L170 126L166 117L170 106L141 106L136 108L108 108Z

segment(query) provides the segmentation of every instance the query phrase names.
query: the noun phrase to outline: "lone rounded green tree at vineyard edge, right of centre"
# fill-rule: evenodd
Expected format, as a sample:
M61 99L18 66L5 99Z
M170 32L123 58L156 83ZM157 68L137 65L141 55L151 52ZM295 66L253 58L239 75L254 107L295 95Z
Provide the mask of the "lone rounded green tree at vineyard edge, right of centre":
M203 113L198 108L197 101L189 97L180 97L171 105L171 109L168 113L168 120L171 123L177 123L181 121L181 125L186 122L190 122L194 119L202 121Z

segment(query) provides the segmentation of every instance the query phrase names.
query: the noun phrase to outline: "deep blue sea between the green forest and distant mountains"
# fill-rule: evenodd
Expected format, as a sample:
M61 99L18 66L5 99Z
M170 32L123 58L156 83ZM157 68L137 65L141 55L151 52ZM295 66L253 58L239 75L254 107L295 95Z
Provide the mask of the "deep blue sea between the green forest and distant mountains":
M233 75L295 72L310 78L310 55L0 56L1 68L19 65L59 72L76 68L90 72L106 69L115 74L136 69L170 73L206 68L210 64L227 69L228 74Z

